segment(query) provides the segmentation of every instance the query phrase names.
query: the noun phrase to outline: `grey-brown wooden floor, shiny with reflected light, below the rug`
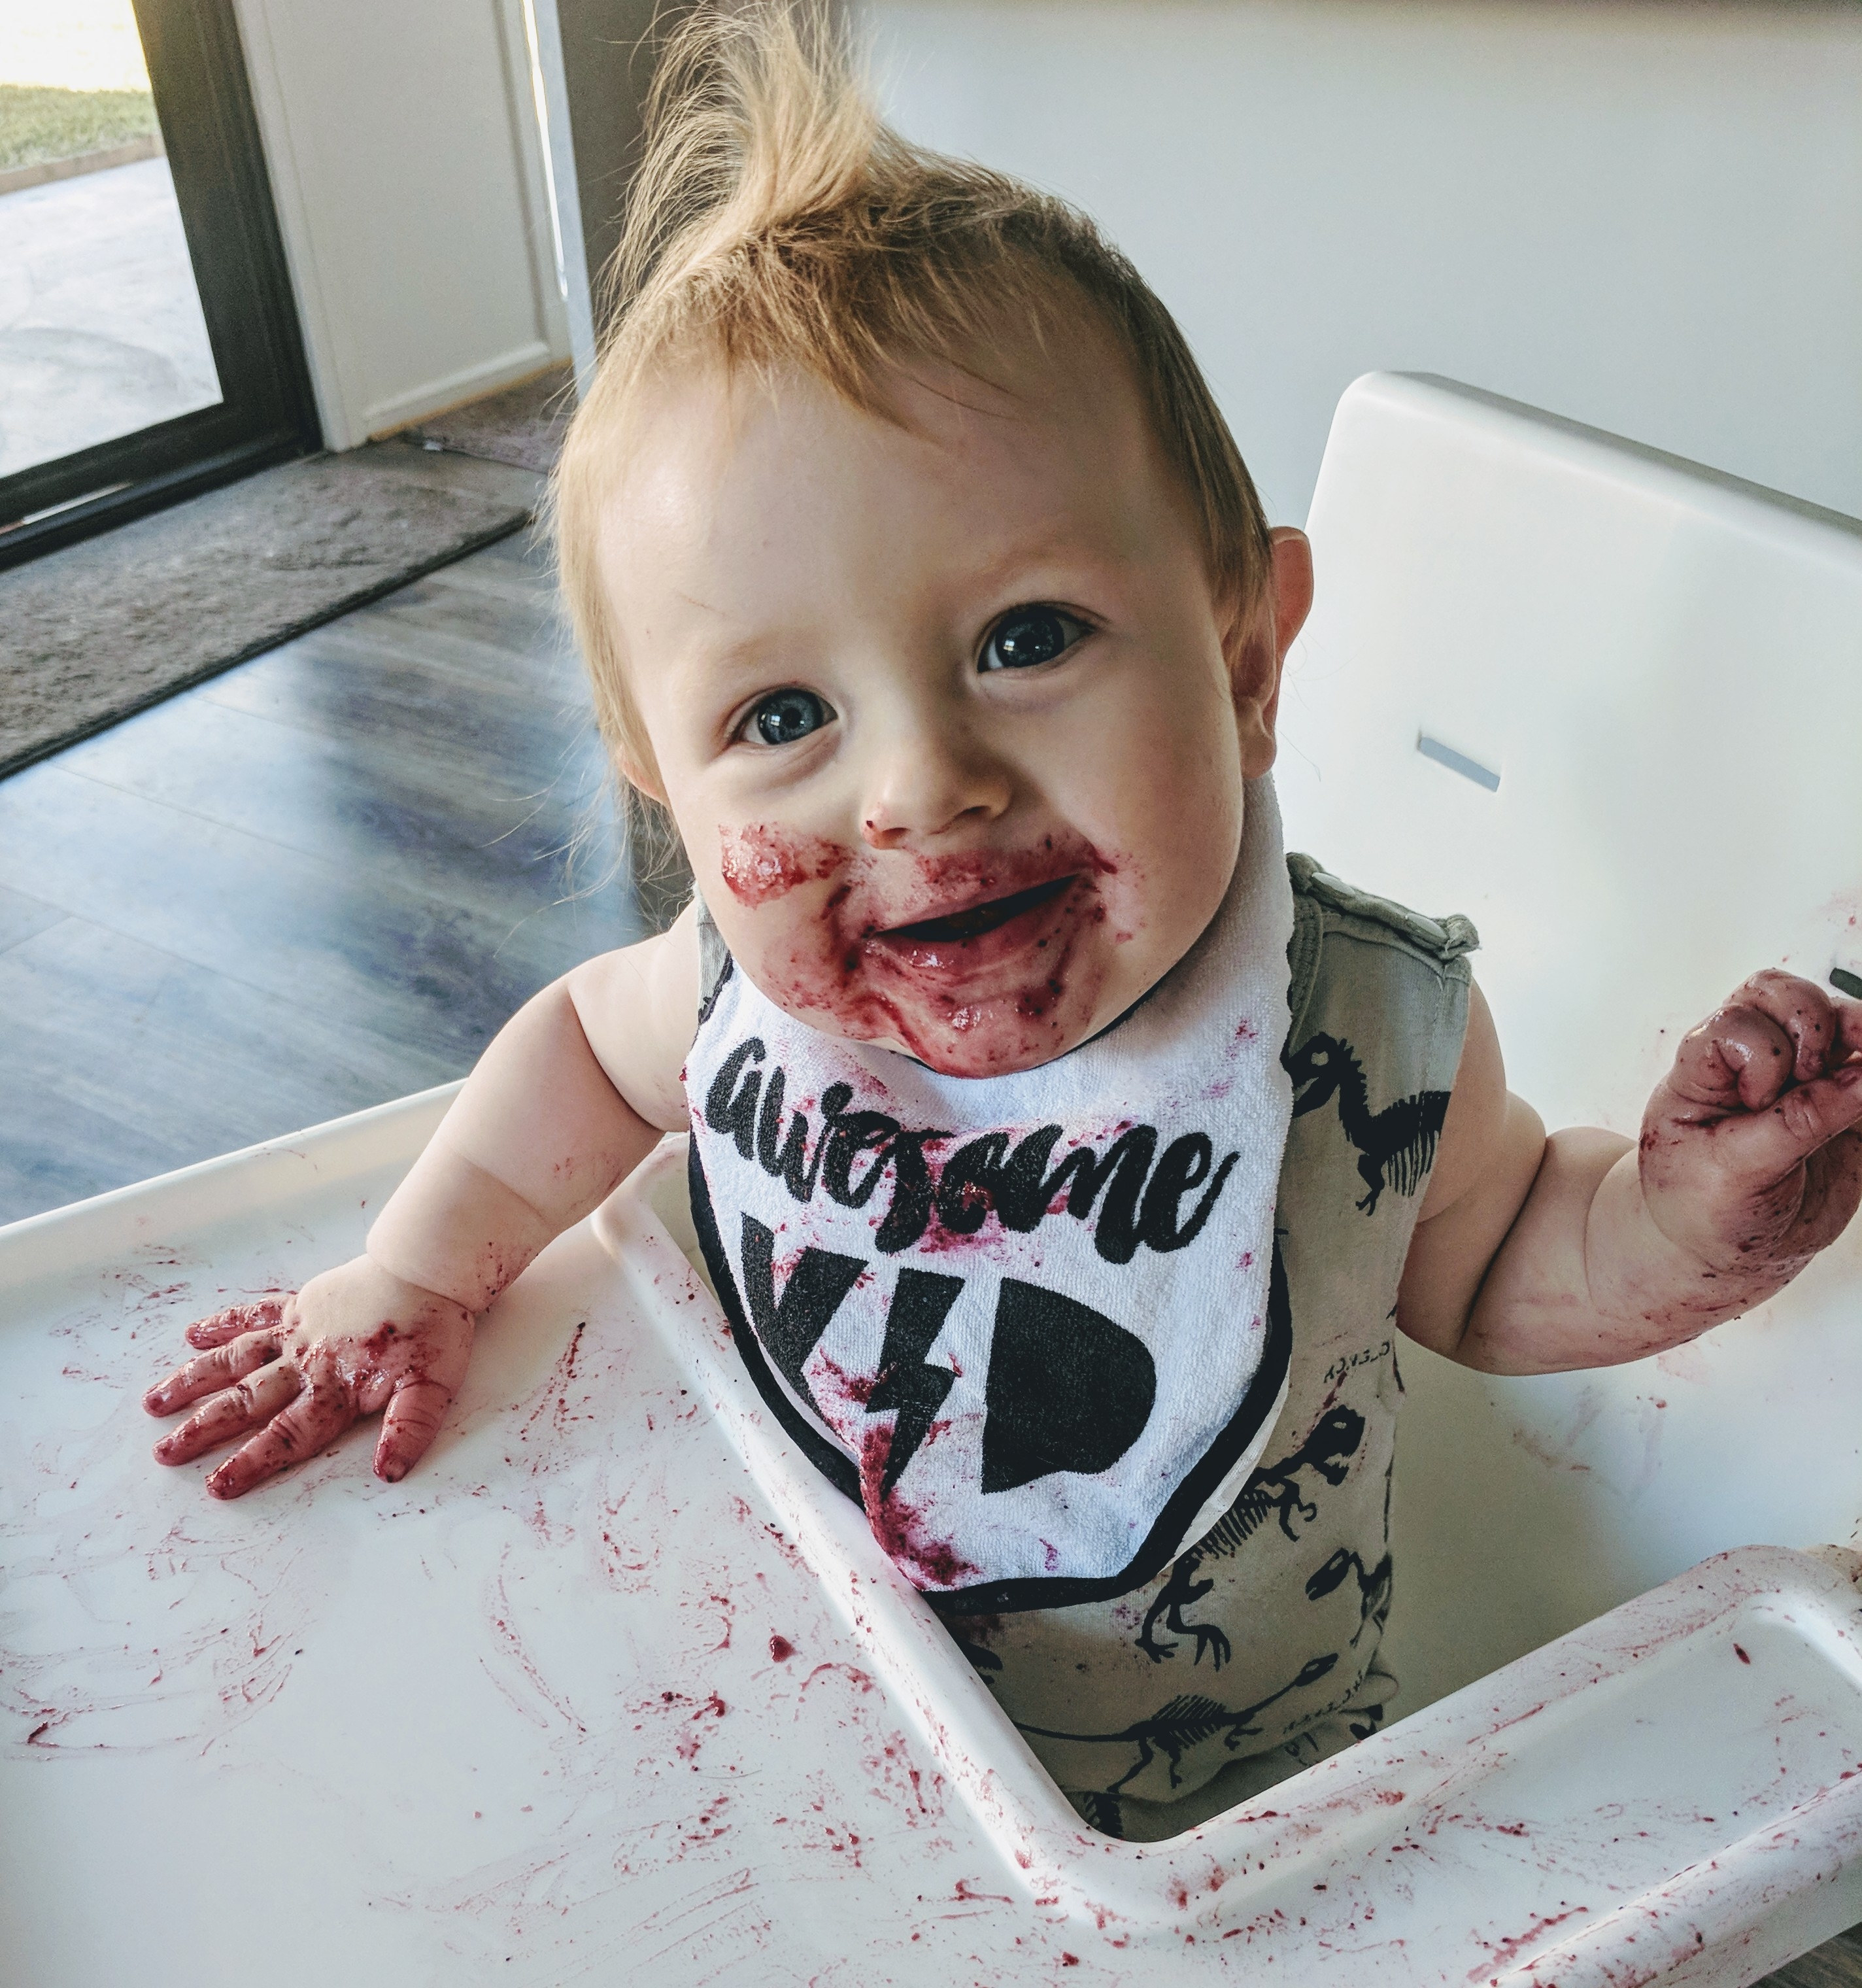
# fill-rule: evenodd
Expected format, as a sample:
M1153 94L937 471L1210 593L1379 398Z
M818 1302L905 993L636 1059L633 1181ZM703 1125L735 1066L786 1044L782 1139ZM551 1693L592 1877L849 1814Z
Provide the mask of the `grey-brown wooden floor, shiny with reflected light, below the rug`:
M664 916L600 795L529 537L0 781L0 1221L461 1076ZM1771 1980L1862 1988L1862 1932Z

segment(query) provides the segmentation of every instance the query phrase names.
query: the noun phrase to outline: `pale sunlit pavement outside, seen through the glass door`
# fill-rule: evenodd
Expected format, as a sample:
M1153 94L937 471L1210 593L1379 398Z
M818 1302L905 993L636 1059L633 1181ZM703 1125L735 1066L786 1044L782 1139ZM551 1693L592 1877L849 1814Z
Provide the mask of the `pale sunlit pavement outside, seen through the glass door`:
M167 159L0 195L0 477L219 398Z

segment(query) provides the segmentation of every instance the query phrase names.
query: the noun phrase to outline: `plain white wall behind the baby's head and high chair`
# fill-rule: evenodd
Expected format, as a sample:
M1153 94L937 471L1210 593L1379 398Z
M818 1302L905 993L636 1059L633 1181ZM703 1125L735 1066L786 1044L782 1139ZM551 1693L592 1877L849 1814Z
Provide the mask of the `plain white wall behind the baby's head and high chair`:
M1079 201L1268 509L1439 372L1862 513L1862 8L864 0L896 123Z

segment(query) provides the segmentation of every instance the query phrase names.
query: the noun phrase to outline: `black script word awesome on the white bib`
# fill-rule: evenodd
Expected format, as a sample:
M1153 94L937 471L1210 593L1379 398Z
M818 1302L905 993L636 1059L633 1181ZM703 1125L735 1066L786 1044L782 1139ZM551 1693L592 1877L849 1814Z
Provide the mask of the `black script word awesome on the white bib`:
M1155 1125L1127 1125L1103 1153L1081 1143L1055 1159L1065 1127L1039 1125L1019 1139L988 1131L940 1161L926 1147L954 1133L849 1109L851 1083L821 1093L817 1133L807 1111L785 1109L787 1076L759 1068L767 1054L761 1036L731 1050L705 1093L705 1123L735 1139L745 1159L803 1205L821 1187L843 1209L862 1209L890 1179L892 1199L874 1235L882 1252L910 1248L934 1211L960 1237L976 1235L992 1213L1004 1229L1021 1233L1065 1213L1091 1225L1093 1246L1107 1262L1131 1262L1141 1242L1153 1250L1186 1248L1240 1157L1228 1153L1216 1165L1200 1131L1182 1133L1159 1153Z

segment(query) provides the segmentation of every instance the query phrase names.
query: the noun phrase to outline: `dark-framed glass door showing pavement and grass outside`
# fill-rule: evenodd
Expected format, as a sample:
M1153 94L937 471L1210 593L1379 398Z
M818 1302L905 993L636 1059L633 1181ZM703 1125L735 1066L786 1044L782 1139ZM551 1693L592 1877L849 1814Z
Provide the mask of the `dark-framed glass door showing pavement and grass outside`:
M0 0L0 565L316 447L231 0Z

